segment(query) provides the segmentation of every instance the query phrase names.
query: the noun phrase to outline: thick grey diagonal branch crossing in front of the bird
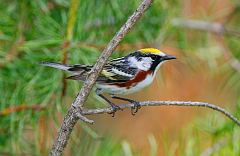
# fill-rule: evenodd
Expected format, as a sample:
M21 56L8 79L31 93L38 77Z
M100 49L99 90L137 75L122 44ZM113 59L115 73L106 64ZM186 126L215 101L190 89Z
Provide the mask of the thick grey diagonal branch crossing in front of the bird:
M86 81L84 82L82 89L78 93L77 97L75 98L74 102L69 108L66 116L64 117L63 123L58 132L57 139L55 140L50 151L50 155L54 156L62 155L62 152L67 145L70 134L77 120L80 118L83 121L86 121L86 118L83 117L82 115L79 115L78 113L80 112L80 114L82 114L81 110L83 109L83 104L85 103L99 73L101 72L103 66L107 62L107 59L116 49L120 41L130 31L133 25L140 19L143 13L149 8L151 3L152 0L144 0L140 4L138 9L133 13L133 15L131 15L128 18L127 22L121 27L118 33L109 42L107 47L103 50L102 55L98 58L96 64L94 65Z

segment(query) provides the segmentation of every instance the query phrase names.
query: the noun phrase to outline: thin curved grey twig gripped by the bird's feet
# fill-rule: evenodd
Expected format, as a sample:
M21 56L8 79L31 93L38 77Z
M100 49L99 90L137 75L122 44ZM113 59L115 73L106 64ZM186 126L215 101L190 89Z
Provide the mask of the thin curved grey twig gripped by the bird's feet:
M229 119L231 119L233 122L235 122L238 126L240 126L240 121L234 117L231 113L226 111L225 109L210 104L206 102L191 102L191 101L144 101L140 102L141 106L191 106L191 107L206 107L210 108L212 110L218 111L223 113L225 116L227 116ZM133 104L122 104L119 105L120 108L131 108L133 107ZM82 114L83 115L91 115L91 114L102 114L102 113L111 113L112 108L99 108L99 109L88 109L88 110L83 110Z

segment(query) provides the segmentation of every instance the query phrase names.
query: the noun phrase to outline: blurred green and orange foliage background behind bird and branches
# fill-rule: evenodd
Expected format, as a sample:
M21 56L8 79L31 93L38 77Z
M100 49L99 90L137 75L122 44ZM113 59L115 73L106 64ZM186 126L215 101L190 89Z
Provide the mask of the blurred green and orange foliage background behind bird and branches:
M48 155L81 87L41 61L93 64L140 0L0 0L0 155ZM240 118L238 0L155 0L113 58L144 47L177 56L129 97L214 103ZM212 33L176 21L218 23ZM199 25L199 24L197 24ZM89 108L107 105L93 94ZM142 108L78 122L64 155L240 155L240 129L203 108Z

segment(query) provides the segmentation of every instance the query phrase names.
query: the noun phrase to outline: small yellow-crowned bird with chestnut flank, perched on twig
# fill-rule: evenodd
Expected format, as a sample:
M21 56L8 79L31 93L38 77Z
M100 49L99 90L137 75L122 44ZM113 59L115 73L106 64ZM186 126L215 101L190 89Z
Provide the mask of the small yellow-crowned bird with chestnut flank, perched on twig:
M111 98L127 101L133 104L131 114L135 115L140 109L140 104L136 100L119 97L137 92L149 86L160 68L168 61L176 59L173 55L168 55L156 48L139 49L130 54L107 61L103 70L96 80L96 94L104 99L112 108L112 116L121 108L110 101L103 93L111 95ZM93 65L83 64L62 64L56 62L41 62L41 65L53 67L70 72L72 75L67 77L70 80L85 81Z

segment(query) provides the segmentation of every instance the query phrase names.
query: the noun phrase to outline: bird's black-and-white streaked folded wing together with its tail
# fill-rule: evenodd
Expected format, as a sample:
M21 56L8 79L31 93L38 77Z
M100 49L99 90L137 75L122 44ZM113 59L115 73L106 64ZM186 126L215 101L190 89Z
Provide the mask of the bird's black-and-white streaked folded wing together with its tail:
M88 73L92 69L92 65L67 65L55 62L42 62L44 66L57 68L60 70L68 71L74 75L67 77L72 80L85 81ZM129 66L129 62L124 58L118 58L109 61L103 68L97 83L111 84L111 83L124 83L131 80L137 73L137 68Z

